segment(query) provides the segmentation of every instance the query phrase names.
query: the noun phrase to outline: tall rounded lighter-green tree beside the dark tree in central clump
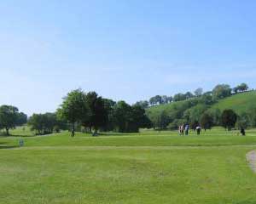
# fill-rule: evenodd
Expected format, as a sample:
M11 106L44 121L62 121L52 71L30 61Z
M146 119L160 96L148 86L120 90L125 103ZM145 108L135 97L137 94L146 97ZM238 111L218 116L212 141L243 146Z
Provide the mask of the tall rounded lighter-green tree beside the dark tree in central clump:
M85 94L81 89L74 90L63 99L57 115L72 124L71 135L75 134L75 123L87 117L88 111L85 103Z

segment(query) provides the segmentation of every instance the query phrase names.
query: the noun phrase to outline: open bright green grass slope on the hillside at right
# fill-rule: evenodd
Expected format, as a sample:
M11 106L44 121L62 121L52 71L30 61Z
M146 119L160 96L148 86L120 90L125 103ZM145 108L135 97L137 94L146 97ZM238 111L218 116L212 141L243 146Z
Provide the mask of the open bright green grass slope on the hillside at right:
M240 114L243 111L247 111L253 105L256 106L256 91L236 94L226 99L220 99L218 103L212 105L211 109L218 108L220 111L232 109L236 111L237 114Z

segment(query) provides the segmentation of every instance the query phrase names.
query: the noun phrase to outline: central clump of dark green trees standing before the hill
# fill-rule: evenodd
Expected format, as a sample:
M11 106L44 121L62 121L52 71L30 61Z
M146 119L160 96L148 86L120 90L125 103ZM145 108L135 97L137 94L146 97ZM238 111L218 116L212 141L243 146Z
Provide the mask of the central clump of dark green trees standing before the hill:
M134 133L140 127L151 127L151 122L140 105L103 99L96 92L84 93L81 89L68 93L55 115L34 114L28 123L41 134L52 133L55 127L59 129L60 124L66 123L72 136L77 127L84 127L93 135L99 130Z

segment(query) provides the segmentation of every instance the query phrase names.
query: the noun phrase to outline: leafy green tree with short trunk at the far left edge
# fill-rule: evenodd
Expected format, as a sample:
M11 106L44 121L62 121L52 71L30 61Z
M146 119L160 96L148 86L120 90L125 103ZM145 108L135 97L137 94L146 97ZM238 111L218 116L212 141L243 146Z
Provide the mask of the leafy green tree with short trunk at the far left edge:
M15 128L19 119L19 110L12 105L0 106L0 127L6 130L9 135L9 129Z

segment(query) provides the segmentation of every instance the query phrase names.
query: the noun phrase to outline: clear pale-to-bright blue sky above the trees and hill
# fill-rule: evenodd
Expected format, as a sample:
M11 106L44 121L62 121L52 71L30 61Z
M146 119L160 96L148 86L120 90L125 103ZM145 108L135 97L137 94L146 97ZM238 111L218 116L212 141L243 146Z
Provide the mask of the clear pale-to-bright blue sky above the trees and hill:
M134 103L256 88L254 0L3 0L0 105L55 111L68 91Z

